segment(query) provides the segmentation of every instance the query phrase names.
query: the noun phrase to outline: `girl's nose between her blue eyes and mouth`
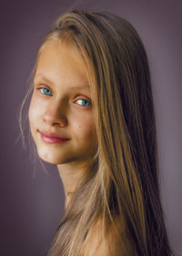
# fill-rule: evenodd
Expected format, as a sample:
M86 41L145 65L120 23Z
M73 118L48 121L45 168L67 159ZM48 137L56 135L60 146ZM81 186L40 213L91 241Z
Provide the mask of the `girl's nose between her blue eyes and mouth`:
M59 103L52 102L47 105L43 113L43 121L49 125L64 127L67 125L66 108Z

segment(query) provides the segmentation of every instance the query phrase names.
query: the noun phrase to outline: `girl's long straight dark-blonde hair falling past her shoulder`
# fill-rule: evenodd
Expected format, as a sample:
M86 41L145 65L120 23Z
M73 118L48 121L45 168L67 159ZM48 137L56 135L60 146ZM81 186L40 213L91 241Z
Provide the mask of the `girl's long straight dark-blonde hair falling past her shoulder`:
M98 146L90 172L56 230L49 256L80 255L96 219L102 219L105 229L108 223L116 225L115 217L137 255L171 255L157 181L147 54L135 28L106 12L69 10L51 27L37 58L53 39L75 47L86 64Z

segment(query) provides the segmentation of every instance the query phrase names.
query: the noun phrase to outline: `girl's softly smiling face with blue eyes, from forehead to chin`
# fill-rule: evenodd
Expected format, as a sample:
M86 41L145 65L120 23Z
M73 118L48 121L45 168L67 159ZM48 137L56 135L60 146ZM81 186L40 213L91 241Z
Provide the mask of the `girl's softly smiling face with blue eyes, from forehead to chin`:
M46 43L37 62L28 115L37 153L46 162L81 164L95 153L91 93L76 49L56 40Z

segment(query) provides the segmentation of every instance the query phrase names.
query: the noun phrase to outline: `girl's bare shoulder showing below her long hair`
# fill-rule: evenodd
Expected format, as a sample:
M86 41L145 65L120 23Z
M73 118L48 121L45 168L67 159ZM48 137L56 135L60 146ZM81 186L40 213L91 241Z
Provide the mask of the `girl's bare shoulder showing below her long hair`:
M110 225L103 236L102 220L98 219L86 236L81 256L136 256L119 219L115 219L115 224L116 229Z

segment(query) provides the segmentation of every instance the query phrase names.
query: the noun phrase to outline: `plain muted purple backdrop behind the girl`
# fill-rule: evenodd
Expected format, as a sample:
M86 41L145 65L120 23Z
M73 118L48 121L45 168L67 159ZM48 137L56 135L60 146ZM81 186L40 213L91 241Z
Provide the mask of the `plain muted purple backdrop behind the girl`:
M38 161L15 141L17 113L40 40L70 6L106 10L128 19L142 38L152 75L157 118L160 187L172 248L182 255L181 45L182 2L1 1L0 255L45 256L63 214L64 194L56 166Z

